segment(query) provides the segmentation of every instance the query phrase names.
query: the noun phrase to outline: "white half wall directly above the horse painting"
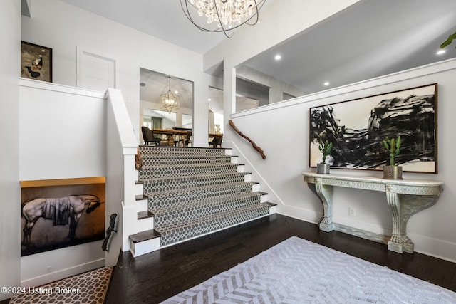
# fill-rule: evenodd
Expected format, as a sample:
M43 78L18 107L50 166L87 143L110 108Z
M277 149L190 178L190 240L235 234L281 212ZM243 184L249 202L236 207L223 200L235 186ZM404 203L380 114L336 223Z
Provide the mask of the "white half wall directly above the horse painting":
M104 176L105 94L39 80L20 85L21 180Z

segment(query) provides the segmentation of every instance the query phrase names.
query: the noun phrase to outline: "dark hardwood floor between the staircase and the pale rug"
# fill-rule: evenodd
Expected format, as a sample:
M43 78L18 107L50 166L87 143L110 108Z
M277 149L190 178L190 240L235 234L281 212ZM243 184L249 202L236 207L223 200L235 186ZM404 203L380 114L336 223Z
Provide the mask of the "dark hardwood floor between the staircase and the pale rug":
M456 263L420 253L394 253L381 243L338 231L327 233L315 224L274 214L137 258L120 253L106 303L160 303L291 236L456 291Z

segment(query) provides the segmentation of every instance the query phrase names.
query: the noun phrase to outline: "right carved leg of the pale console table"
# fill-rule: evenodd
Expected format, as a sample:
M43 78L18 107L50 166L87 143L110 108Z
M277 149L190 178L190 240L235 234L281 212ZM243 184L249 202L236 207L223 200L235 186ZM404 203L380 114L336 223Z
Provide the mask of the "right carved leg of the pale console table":
M413 253L413 242L407 236L408 219L418 211L435 204L438 197L386 192L386 200L393 216L393 234L388 241L388 250Z

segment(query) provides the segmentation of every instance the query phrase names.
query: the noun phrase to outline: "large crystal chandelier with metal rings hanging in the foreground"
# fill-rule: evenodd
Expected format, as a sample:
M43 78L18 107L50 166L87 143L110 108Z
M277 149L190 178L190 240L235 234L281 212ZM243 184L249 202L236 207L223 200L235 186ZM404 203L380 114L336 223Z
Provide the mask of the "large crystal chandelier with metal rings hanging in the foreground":
M231 38L233 34L229 36L227 31L244 23L253 26L258 22L258 11L264 2L266 0L180 0L180 5L187 19L200 30L222 31ZM203 15L207 20L204 26Z

